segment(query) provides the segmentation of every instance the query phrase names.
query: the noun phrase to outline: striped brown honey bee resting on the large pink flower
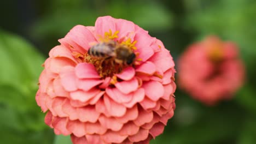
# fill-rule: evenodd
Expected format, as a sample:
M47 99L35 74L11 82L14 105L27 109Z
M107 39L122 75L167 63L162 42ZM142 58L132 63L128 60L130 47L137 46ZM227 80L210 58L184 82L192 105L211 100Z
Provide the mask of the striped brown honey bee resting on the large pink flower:
M113 40L90 47L88 55L103 60L113 58L114 62L124 65L132 65L136 58L135 53L128 46Z

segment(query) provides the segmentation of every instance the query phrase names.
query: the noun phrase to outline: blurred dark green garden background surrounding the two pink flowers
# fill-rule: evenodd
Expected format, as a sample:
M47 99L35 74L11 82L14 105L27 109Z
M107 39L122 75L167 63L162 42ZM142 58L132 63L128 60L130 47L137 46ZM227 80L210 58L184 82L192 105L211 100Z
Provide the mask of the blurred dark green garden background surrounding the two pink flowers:
M150 143L256 143L255 0L8 0L0 9L0 143L69 143L44 124L34 97L48 52L75 25L98 16L135 22L160 39L174 61L215 34L240 47L247 81L229 101L205 106L177 89L176 111ZM178 75L178 73L177 73Z

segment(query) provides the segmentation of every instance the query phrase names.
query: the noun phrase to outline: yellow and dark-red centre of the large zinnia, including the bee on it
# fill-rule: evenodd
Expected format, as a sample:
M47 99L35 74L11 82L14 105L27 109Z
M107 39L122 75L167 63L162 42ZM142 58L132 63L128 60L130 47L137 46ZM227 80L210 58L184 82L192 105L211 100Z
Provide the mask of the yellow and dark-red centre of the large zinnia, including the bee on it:
M119 31L112 33L104 33L104 37L100 37L100 42L90 47L84 56L84 62L91 63L95 66L98 74L104 79L112 77L114 74L121 73L124 68L134 67L139 61L136 50L136 42L131 41L130 38L116 40Z

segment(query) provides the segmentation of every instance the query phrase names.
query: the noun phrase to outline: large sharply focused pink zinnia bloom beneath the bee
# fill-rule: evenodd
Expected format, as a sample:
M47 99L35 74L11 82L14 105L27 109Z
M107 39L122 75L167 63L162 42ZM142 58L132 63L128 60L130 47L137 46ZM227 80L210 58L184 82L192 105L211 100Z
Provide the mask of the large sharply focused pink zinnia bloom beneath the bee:
M102 41L117 41L136 54L133 65L90 57ZM44 63L37 104L55 134L73 143L149 143L175 109L174 62L160 40L134 23L110 16L95 26L75 26ZM120 67L119 67L120 66Z

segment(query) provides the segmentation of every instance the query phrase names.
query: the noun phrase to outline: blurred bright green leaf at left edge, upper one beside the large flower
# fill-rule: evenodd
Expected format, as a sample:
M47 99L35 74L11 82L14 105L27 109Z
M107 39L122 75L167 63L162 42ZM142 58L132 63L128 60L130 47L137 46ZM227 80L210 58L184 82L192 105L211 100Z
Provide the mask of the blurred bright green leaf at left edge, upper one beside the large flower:
M24 39L0 31L0 85L11 85L25 95L36 89L43 57Z

